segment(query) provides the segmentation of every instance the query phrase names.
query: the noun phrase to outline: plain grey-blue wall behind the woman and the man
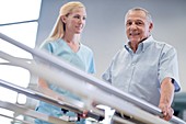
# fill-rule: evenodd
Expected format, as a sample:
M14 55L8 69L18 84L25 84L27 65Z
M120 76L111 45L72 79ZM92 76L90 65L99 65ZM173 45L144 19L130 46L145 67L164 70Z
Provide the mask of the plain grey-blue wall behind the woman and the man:
M43 0L37 45L49 34L59 8L69 0ZM186 91L186 0L79 0L86 7L86 26L82 43L89 45L96 64L96 77L107 68L112 57L126 42L124 15L132 7L142 7L152 14L153 36L173 45L178 53L182 91Z

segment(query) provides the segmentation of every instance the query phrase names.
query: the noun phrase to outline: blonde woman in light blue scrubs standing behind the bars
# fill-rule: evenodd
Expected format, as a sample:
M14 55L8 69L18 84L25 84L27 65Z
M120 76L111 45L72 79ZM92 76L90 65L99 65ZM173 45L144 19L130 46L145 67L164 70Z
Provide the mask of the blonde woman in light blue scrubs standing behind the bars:
M59 16L51 31L50 36L42 44L42 49L55 55L72 66L84 70L89 74L94 74L93 52L82 43L81 32L85 26L86 11L85 7L78 1L72 1L63 4L59 11ZM46 80L38 79L38 88L43 89L45 93L58 99L57 93L71 97L80 100L65 89L48 83ZM61 111L60 108L40 101L36 111L60 117L63 114L69 116L77 116L77 113ZM49 124L47 122L35 120L36 124ZM80 120L77 124L84 124L84 120Z

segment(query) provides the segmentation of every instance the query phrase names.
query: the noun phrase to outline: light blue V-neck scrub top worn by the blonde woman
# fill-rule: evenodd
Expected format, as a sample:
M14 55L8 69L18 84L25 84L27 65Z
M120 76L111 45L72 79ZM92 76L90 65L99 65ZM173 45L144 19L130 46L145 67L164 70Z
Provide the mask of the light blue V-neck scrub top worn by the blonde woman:
M57 41L53 42L46 42L43 46L42 49L46 50L47 53L55 55L62 60L71 64L72 66L89 72L89 74L94 74L95 72L95 66L94 66L94 59L93 59L93 52L85 45L80 44L80 49L74 53L68 44L59 38ZM79 97L75 94L61 89L53 83L48 83L49 88L53 91L56 91L62 95L73 98L75 100L81 100ZM39 101L38 106L36 108L36 111L46 113L48 115L53 116L61 116L63 112L61 111L61 108L57 108L55 105L48 104L46 102ZM67 115L70 116L77 116L75 113L73 112L67 112ZM36 124L40 124L43 121L36 120ZM44 122L43 122L44 123ZM46 123L48 124L48 123ZM80 121L78 124L84 124L84 121Z

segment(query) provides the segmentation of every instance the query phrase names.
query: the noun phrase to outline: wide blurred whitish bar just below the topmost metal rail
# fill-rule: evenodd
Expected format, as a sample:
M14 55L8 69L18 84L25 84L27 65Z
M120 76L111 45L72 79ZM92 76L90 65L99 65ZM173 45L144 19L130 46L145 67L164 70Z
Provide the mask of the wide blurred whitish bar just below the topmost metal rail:
M89 83L84 84L83 80L80 80L78 78L74 78L70 76L67 72L61 74L59 70L55 71L55 68L48 67L45 65L39 64L32 64L26 63L23 59L19 59L16 57L12 57L5 53L0 52L1 58L10 61L11 64L14 64L16 66L23 67L25 69L28 69L31 72L37 75L38 77L43 77L44 79L48 81L54 81L54 84L57 84L61 88L68 89L69 91L75 93L77 95L81 95L84 99L88 99L88 101L95 100L97 103L102 103L105 105L108 105L113 109L116 109L126 115L131 115L133 120L138 120L139 122L143 123L161 123L161 124L170 124L168 122L154 116L115 95L111 95L103 90L96 89L93 86L90 86ZM51 71L53 68L53 71ZM62 80L61 80L62 79ZM77 87L81 90L77 90ZM90 93L92 92L92 93ZM104 98L104 99L103 99ZM90 102L86 101L86 104L90 106ZM112 101L112 102L111 102ZM85 102L85 101L84 101ZM91 108L88 108L91 110ZM95 111L95 110L94 110ZM132 120L130 120L132 121Z

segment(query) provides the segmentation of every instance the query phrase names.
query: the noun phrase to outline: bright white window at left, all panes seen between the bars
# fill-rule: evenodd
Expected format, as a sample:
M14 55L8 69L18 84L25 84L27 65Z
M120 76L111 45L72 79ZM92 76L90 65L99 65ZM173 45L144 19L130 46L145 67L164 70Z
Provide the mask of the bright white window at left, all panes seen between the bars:
M2 0L0 3L0 32L34 48L40 4L42 0ZM2 41L1 38L0 50L15 57L32 58L30 53ZM0 79L26 88L30 82L30 71L21 67L5 65L4 61L5 60L0 58ZM26 101L25 95L18 97L15 91L3 87L0 87L0 91L1 101L11 103L24 103ZM12 115L12 113L10 113L10 115Z

